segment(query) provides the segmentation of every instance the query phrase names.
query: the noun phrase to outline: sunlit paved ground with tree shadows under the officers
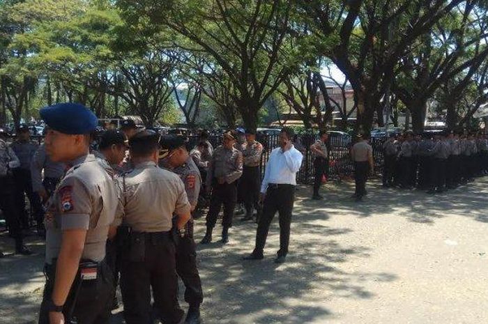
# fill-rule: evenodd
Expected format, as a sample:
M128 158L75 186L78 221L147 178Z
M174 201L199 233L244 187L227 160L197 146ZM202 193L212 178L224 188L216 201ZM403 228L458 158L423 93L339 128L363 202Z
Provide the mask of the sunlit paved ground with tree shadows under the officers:
M238 219L229 245L199 247L205 323L488 323L487 185L429 196L374 183L359 204L348 183L327 185L324 201L300 187L287 263L273 263L277 222L263 261L241 261L255 225ZM43 245L31 246L36 256L0 261L0 323L36 323Z

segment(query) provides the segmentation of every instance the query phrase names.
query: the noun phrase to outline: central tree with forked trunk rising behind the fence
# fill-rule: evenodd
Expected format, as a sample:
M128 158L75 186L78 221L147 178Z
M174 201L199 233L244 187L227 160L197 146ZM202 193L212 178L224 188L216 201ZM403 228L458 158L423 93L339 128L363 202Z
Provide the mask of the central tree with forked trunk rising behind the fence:
M232 100L245 127L257 127L267 98L289 74L296 56L289 46L294 1L284 0L119 0L130 24L149 19L185 38L175 44L208 55L231 84Z

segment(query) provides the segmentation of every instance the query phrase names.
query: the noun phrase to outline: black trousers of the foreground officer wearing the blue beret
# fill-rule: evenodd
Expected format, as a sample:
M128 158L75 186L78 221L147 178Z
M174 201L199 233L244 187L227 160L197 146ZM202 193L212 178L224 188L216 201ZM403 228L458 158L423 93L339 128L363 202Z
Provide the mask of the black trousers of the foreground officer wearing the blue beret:
M46 264L44 272L46 276L46 284L44 286L43 302L40 304L39 324L49 324L47 302L52 298L54 277L56 275L56 263L53 263L52 265ZM79 286L80 284L81 286ZM77 318L77 324L109 323L113 290L114 281L112 278L112 271L105 261L102 261L98 266L96 279L80 280L79 274L77 274L63 310L66 323L70 323L68 322L67 317L69 316L68 312L73 307L75 295L77 295L77 297L73 316Z

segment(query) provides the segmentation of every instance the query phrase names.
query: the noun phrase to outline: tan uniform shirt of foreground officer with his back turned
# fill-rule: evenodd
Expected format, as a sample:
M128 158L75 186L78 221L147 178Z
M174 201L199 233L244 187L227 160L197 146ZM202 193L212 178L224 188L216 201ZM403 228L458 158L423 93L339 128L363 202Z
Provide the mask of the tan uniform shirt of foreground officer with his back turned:
M190 213L185 185L173 172L154 162L143 162L124 175L123 223L137 232L171 229L173 214Z

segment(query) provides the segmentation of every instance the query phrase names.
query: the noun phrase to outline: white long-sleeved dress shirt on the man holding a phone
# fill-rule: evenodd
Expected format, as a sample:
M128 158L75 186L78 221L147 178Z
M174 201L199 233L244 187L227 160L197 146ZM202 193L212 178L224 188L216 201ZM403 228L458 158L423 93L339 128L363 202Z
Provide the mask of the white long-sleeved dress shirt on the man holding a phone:
M265 193L270 183L296 185L296 173L302 165L302 160L302 153L294 146L286 152L280 147L271 151L261 183L261 192Z

